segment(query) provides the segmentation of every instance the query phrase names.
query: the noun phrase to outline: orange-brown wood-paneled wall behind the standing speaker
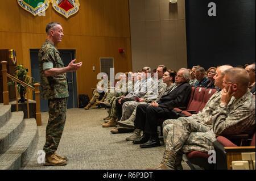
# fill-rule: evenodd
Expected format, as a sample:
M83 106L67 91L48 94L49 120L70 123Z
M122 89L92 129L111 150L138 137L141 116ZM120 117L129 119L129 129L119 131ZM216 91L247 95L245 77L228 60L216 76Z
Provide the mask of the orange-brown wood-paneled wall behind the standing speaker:
M15 49L18 64L30 69L30 49L40 49L46 39L49 22L60 22L64 39L58 49L75 49L78 94L89 94L100 73L100 57L114 57L115 73L131 70L129 0L80 0L80 10L66 19L53 7L45 16L33 16L16 0L0 6L0 49ZM118 48L125 49L124 54ZM2 61L2 60L1 60ZM92 70L92 66L96 70Z

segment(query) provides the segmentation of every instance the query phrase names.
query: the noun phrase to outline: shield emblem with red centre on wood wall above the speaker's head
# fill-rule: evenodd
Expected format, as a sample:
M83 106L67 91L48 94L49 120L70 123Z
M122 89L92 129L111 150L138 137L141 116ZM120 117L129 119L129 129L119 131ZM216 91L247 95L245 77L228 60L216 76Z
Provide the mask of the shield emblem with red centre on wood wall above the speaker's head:
M66 18L79 11L78 0L51 0L51 2L53 9Z

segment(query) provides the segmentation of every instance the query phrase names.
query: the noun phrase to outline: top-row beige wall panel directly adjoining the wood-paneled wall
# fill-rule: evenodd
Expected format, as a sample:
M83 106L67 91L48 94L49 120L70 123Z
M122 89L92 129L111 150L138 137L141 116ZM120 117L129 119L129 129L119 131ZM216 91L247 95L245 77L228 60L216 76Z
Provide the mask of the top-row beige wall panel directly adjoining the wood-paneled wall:
M130 0L130 22L145 21L144 0Z

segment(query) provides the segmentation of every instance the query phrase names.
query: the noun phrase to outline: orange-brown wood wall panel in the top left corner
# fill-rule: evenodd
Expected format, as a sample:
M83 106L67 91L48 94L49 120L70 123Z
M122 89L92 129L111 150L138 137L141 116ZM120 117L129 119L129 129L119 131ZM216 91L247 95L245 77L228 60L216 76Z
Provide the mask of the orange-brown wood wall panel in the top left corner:
M0 31L20 32L19 5L14 0L1 1Z

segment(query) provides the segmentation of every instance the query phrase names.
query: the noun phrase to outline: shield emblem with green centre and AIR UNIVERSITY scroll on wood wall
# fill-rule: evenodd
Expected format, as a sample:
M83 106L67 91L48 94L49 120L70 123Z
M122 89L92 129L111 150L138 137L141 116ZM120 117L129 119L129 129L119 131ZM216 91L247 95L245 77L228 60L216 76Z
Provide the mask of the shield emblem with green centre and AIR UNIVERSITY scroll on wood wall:
M20 7L32 15L40 15L49 7L50 0L17 0Z

